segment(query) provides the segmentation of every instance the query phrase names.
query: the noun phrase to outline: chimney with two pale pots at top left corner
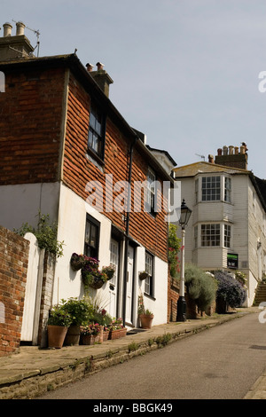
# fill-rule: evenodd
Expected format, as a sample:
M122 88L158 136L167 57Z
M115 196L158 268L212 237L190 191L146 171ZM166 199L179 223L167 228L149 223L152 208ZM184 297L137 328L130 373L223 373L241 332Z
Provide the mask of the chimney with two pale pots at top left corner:
M24 23L19 21L16 26L16 35L12 35L12 24L7 22L3 25L4 34L0 37L0 62L33 56L34 47L24 35Z

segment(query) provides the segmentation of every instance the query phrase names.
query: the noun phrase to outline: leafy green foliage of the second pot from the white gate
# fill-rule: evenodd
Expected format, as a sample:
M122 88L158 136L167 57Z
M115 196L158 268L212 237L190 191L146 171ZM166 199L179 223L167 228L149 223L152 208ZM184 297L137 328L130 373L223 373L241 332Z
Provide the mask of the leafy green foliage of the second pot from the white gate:
M75 326L86 325L90 319L91 305L85 299L78 300L76 297L62 300L62 309L72 317L72 324Z

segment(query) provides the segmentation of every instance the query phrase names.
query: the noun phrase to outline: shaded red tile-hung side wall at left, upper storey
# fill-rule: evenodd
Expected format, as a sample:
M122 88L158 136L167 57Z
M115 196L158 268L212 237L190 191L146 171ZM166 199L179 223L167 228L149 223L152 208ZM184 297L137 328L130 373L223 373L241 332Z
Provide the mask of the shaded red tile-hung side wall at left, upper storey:
M62 68L5 70L0 185L58 180L64 83Z

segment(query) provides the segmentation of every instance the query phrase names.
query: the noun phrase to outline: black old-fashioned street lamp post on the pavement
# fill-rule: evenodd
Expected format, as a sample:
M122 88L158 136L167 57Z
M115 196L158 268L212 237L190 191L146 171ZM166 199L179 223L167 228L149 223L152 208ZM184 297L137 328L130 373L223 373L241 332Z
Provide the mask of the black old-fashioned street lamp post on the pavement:
M185 226L188 224L188 221L191 215L192 215L192 210L186 206L183 200L181 204L181 213L180 213L180 218L179 218L179 224L182 228L182 257L181 257L180 288L179 288L179 297L177 301L176 321L186 320L186 303L185 303L185 298L184 298L184 233L185 233Z

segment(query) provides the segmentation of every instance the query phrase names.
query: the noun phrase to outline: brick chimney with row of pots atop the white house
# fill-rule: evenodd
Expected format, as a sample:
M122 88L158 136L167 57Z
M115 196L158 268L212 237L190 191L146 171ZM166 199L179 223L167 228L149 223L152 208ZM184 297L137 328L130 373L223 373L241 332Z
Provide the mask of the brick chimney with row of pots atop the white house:
M217 150L215 163L225 167L247 169L247 148L246 143L240 146L223 146Z

